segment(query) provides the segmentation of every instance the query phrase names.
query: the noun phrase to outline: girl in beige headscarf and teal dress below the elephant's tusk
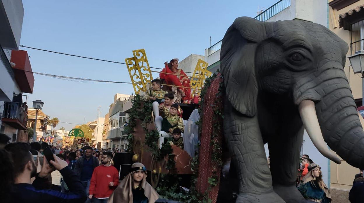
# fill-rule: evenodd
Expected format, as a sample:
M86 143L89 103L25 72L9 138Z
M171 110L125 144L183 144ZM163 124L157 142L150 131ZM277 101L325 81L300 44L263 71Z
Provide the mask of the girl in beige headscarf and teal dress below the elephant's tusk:
M330 203L331 195L329 189L324 183L324 180L322 179L320 169L320 166L316 163L308 165L308 173L305 175L297 189L306 200Z

